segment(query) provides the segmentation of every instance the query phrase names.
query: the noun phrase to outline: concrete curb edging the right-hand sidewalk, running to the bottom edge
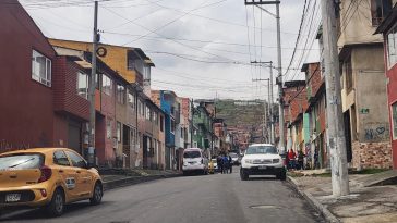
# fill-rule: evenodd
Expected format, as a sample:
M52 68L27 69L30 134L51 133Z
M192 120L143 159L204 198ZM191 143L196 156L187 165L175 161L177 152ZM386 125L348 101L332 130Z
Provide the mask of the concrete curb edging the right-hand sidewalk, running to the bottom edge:
M330 223L340 223L340 221L338 220L338 218L336 218L325 206L323 206L321 202L318 202L318 200L316 200L313 195L311 195L310 193L304 191L303 189L300 189L298 186L298 183L294 178L292 178L291 176L287 176L287 182L290 183L296 189L297 191L309 201L309 203L316 210L318 211L325 219L326 222L330 222Z

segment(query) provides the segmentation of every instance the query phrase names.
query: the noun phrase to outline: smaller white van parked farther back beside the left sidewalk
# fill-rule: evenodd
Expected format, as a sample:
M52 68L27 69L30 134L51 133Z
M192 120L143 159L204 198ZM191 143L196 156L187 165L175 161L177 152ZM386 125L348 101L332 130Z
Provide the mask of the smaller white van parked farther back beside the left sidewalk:
M203 154L200 148L189 148L183 151L183 175L198 172L208 174L208 159Z

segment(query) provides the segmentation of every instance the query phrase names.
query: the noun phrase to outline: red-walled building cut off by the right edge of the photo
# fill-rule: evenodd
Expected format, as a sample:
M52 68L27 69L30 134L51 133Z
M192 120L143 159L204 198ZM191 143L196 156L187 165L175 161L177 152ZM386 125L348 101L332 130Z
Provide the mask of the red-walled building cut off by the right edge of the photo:
M390 122L390 141L393 168L397 169L397 5L377 27L375 34L383 34L385 51L385 71L387 77L387 110Z

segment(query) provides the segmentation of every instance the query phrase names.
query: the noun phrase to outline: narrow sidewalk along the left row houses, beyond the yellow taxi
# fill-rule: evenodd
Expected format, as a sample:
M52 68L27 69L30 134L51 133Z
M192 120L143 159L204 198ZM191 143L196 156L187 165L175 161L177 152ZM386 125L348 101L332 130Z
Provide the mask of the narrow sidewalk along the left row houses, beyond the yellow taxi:
M106 170L99 170L99 173L104 181L105 190L160 178L178 177L182 175L181 172L169 171L169 170L158 171L158 170L106 169Z

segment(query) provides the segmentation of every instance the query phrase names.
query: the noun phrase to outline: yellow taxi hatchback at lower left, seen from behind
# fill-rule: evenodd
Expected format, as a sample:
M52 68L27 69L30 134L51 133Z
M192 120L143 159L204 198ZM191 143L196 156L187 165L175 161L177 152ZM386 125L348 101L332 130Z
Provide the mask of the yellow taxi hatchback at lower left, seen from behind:
M52 216L64 205L104 195L98 171L75 151L35 148L0 154L0 211L9 207L43 207Z

